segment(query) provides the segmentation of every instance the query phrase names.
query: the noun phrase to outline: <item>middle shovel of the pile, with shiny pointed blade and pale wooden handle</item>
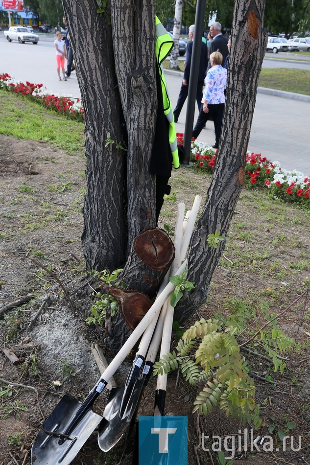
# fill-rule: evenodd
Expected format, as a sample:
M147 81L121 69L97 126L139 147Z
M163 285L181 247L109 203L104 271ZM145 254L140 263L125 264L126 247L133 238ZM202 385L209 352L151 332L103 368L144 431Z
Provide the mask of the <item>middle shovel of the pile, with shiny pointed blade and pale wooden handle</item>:
M175 268L175 262L180 261L179 257L183 236L184 210L185 205L180 203L178 206L175 228L175 258L171 269ZM168 282L168 273L165 276L165 280ZM159 294L160 292L161 289L159 290ZM132 420L135 420L146 378L154 364L156 354L159 349L163 334L166 307L167 302L161 310L154 335L153 331L156 325L155 319L154 323L149 325L145 330L133 366L127 377L125 387L113 388L111 391L103 413L104 420L100 423L98 434L98 444L100 449L104 452L108 452L112 449L112 447L120 440L124 432L128 429ZM171 333L168 337L171 337ZM152 341L145 362L144 357L151 338Z

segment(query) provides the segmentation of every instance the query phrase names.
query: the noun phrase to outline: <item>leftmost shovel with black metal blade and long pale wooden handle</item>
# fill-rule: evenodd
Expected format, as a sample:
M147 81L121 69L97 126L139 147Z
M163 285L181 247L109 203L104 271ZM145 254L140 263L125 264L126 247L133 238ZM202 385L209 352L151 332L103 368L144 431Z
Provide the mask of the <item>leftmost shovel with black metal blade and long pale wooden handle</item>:
M185 268L186 262L180 267L178 273L182 273ZM170 282L167 284L83 402L78 402L69 394L63 396L36 436L31 448L32 465L71 464L103 418L92 410L96 398L104 390L111 376L138 342L147 326L157 317L174 287Z

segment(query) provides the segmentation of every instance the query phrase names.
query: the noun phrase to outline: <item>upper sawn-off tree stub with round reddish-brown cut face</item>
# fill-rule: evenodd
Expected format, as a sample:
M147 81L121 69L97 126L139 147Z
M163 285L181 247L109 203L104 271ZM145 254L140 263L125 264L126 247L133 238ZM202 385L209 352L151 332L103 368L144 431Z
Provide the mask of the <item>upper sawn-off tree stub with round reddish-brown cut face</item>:
M154 297L174 258L173 243L158 228L147 229L134 239L131 254L119 277L130 289Z

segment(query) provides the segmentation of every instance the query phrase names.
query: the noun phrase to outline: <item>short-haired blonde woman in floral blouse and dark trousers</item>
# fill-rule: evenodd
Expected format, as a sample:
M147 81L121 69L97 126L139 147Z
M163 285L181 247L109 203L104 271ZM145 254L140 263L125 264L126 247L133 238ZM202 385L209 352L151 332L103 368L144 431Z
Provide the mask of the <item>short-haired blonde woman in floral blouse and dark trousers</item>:
M211 68L207 72L205 78L206 87L202 97L203 105L201 106L196 125L192 132L192 137L197 139L208 119L212 117L215 128L214 148L218 148L225 105L224 90L226 89L227 70L222 68L222 61L223 56L220 52L211 53Z

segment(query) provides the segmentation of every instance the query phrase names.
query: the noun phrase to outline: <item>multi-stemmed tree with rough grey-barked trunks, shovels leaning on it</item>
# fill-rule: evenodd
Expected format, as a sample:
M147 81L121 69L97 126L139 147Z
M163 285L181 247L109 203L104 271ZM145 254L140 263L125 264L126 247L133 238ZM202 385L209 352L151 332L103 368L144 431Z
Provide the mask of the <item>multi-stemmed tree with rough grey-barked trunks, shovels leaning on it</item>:
M155 226L155 180L148 170L157 109L155 0L111 0L112 27L110 11L96 13L95 1L63 2L85 108L83 249L90 269L112 271L126 262L134 237ZM267 41L263 9L264 0L235 3L220 146L205 208L191 238L187 279L194 281L195 289L176 308L181 322L207 299L224 248L224 241L217 249L210 248L207 238L216 231L226 236L242 189ZM126 138L123 123L127 154L120 148ZM133 273L130 263L124 279ZM109 323L108 318L107 328ZM112 348L123 344L130 333L120 313L113 323Z

